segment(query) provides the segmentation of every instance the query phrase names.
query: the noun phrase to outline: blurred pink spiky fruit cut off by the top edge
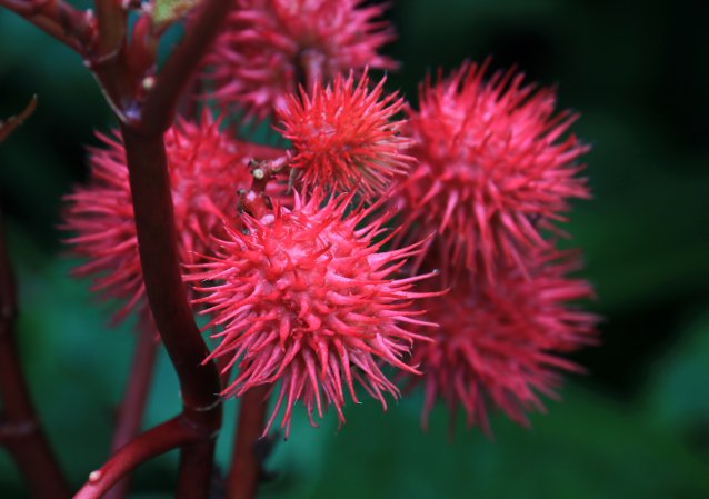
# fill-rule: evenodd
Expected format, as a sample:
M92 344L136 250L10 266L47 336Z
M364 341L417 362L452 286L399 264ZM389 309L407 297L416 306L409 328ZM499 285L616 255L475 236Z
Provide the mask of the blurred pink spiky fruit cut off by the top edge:
M298 86L342 71L391 69L378 53L393 31L382 6L361 0L237 0L206 63L213 97L226 108L263 119Z

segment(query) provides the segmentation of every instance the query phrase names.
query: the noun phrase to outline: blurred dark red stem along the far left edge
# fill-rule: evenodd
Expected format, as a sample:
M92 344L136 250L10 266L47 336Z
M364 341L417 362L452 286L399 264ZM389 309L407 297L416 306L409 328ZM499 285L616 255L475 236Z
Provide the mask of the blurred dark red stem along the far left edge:
M30 399L13 335L17 300L14 280L0 219L0 443L4 445L38 499L66 499L69 487Z

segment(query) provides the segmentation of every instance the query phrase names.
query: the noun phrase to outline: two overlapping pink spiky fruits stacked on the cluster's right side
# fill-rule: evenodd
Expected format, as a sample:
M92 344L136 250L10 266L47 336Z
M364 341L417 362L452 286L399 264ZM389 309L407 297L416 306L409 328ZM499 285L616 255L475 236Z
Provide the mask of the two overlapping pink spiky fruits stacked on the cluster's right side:
M488 405L518 422L542 408L537 392L552 395L557 371L577 369L558 356L591 342L596 318L567 303L592 291L566 277L578 257L550 239L569 200L589 197L576 176L588 147L563 138L576 116L555 114L553 92L522 74L486 81L486 68L466 63L421 86L409 113L418 164L393 202L409 238L437 231L413 268L440 269L450 290L425 303L440 325L436 346L413 352L425 420L442 398L451 418L460 405L468 425L488 429Z

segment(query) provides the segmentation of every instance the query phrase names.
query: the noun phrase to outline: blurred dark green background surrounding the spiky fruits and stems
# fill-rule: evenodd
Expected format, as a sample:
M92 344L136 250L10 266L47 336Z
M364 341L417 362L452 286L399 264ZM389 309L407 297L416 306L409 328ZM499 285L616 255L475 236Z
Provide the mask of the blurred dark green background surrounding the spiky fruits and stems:
M427 71L493 57L558 86L595 198L569 230L605 317L602 345L577 356L561 402L532 428L493 419L495 440L439 408L419 428L420 393L387 413L349 407L340 431L303 415L269 461L263 498L706 498L709 497L709 30L702 1L399 0L388 14L402 61L390 88L412 100ZM86 178L92 130L112 126L81 61L0 11L0 117L32 93L32 119L0 148L0 196L19 278L18 335L39 411L79 486L106 459L132 323L109 330L112 307L68 278L60 198ZM148 423L178 411L164 356ZM228 406L223 465L236 408ZM137 498L171 497L176 457L142 467ZM0 450L0 498L26 498Z

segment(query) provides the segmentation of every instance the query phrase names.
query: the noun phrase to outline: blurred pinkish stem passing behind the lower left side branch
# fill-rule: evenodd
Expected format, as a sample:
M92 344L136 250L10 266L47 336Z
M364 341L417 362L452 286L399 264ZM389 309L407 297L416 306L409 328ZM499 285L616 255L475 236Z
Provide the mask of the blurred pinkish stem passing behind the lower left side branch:
M113 442L111 443L112 453L130 442L140 430L157 353L156 331L153 328L144 326L138 338L126 395L118 413L118 422L113 433ZM128 493L129 487L130 479L127 477L116 483L104 498L122 499Z

